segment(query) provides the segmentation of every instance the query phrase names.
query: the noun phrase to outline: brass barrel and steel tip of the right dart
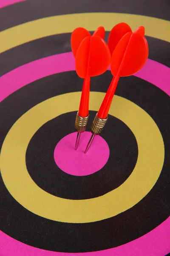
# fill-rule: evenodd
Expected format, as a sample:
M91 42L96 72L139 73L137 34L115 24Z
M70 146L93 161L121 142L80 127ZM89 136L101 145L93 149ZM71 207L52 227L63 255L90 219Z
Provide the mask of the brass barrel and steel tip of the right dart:
M85 149L85 154L87 153L88 148L90 147L90 145L91 145L95 135L99 135L102 132L102 130L103 130L107 120L108 120L108 117L106 119L101 119L101 118L99 118L97 116L97 114L94 117L93 123L91 125L91 133L92 133L92 135L91 135L91 138L90 138L90 140L88 142L88 145L87 145L87 147Z

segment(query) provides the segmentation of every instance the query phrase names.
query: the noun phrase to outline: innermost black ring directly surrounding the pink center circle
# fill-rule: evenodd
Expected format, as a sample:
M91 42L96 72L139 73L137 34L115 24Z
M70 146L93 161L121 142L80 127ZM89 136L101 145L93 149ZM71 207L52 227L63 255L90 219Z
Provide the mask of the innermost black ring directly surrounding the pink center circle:
M110 148L108 162L94 174L82 177L69 175L56 165L54 149L59 140L73 130L76 114L70 112L57 116L34 134L26 152L27 170L34 182L52 195L74 200L99 197L116 189L132 173L138 157L136 138L127 125L109 115L108 124L102 132ZM95 114L90 111L88 131ZM67 126L66 120L69 120Z

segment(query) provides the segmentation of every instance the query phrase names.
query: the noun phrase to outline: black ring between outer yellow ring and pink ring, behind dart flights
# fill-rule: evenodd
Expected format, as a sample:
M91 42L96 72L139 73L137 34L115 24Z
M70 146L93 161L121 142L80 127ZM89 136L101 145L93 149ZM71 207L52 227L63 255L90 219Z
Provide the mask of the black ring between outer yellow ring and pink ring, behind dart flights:
M108 42L109 32L106 32L105 41ZM51 35L40 38L1 53L0 76L31 61L51 55L71 52L71 33ZM170 43L146 36L149 46L149 58L170 67Z

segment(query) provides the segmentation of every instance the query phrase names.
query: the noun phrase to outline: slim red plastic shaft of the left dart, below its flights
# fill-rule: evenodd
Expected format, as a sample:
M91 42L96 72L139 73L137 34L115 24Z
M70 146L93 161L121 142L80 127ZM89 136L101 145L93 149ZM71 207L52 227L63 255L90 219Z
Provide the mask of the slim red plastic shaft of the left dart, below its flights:
M82 95L80 99L79 105L79 116L86 117L88 116L89 109L89 97L90 97L90 76L86 77L83 81L82 86Z

